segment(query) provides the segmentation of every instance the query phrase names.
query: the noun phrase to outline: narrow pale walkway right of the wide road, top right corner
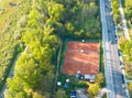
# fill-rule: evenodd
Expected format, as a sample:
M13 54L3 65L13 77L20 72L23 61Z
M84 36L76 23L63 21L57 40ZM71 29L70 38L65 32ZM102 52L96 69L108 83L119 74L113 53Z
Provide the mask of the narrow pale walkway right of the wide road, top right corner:
M130 35L129 35L129 31L128 31L128 26L127 26L127 20L125 20L124 13L123 13L123 7L121 3L121 0L119 0L119 11L121 14L121 22L122 22L122 26L123 26L124 36L127 40L130 41Z

